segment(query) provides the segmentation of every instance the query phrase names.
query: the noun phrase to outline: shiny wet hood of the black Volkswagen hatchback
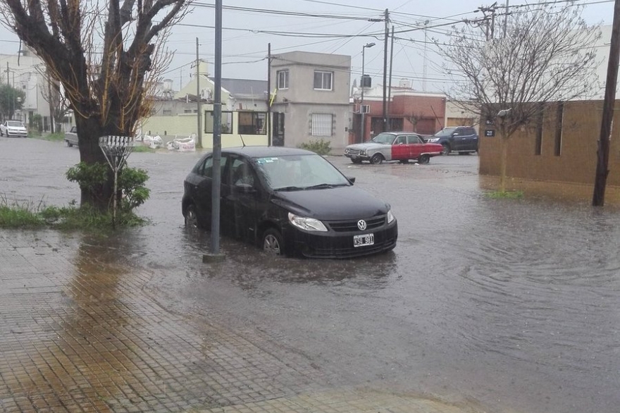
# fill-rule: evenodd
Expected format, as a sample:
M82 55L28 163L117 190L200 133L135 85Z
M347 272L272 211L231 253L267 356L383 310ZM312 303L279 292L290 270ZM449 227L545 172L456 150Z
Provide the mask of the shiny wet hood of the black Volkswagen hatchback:
M346 221L387 214L389 206L359 187L278 191L273 202L293 214L325 221Z

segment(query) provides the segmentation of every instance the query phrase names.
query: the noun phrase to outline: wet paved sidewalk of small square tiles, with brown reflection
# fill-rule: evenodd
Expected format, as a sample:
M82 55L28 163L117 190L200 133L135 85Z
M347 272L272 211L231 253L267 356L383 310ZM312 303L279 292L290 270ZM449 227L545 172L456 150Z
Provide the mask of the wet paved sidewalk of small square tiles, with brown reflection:
M1 412L475 412L339 388L248 328L180 314L114 240L0 230Z

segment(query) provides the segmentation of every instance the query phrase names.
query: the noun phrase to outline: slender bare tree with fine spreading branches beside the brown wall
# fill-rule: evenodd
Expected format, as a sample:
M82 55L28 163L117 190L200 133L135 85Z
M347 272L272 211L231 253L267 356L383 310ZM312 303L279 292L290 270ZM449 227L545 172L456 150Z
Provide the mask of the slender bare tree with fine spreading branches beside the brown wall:
M520 6L501 39L481 39L476 28L455 30L437 42L450 65L450 99L477 107L500 136L500 191L505 191L508 140L557 102L589 99L600 92L593 45L598 26L581 18L583 6L558 1ZM464 107L471 109L471 106Z

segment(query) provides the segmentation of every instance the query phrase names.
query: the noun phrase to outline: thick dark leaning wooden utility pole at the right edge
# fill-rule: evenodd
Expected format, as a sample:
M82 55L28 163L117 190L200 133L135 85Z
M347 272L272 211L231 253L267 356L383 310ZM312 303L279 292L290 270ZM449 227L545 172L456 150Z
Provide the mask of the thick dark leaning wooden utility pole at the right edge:
M612 23L612 41L609 45L609 61L607 62L607 82L605 84L605 101L603 101L603 117L598 141L596 175L592 206L605 204L605 186L609 170L609 138L614 122L614 102L616 101L616 82L618 64L620 63L620 0L614 6L614 22Z

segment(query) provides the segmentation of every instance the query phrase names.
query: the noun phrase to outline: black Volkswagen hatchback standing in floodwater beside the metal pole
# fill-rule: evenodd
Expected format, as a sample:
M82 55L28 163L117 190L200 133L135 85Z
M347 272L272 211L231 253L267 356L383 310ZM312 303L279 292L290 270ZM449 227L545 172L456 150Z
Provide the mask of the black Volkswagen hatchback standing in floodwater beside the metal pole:
M349 258L390 251L398 237L390 205L353 185L323 156L285 147L221 152L220 228L288 256ZM188 227L211 226L213 154L184 182Z

